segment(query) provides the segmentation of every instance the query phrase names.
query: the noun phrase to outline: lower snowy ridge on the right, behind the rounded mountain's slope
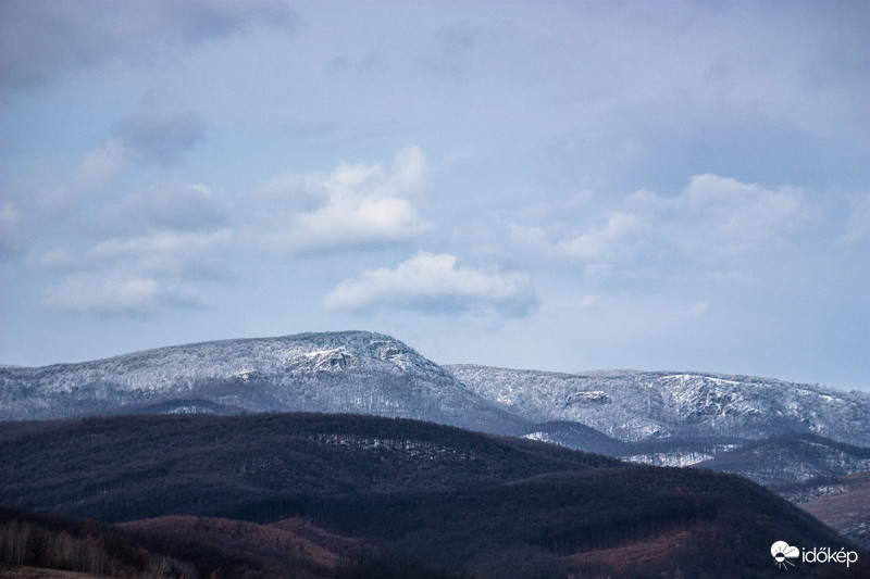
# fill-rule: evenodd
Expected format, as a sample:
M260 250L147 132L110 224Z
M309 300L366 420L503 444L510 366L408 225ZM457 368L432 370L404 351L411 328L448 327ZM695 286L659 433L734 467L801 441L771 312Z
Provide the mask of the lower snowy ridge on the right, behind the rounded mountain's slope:
M530 421L581 423L625 442L810 432L870 446L866 392L719 374L445 368L483 399Z

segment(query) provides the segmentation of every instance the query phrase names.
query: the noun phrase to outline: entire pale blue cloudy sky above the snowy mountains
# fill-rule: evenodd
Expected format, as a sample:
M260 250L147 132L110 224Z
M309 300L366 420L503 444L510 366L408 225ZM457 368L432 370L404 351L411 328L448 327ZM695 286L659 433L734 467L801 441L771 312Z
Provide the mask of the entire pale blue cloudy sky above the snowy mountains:
M870 2L0 0L0 363L363 329L870 390Z

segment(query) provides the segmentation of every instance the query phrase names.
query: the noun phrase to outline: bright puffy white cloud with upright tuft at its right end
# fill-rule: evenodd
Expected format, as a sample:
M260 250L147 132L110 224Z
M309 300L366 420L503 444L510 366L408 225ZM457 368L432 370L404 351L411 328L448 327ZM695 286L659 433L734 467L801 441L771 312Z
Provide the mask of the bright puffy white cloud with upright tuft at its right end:
M285 175L264 190L249 214L249 237L291 253L411 239L431 228L410 197L425 182L422 151L380 164L339 165L333 173Z

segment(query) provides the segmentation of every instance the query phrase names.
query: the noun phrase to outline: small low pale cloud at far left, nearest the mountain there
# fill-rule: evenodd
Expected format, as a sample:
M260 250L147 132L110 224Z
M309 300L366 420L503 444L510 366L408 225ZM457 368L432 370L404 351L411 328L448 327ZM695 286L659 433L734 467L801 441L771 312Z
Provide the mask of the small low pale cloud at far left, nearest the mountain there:
M177 284L109 272L76 274L46 288L42 305L67 312L129 315L164 305L191 307L198 302L191 290Z

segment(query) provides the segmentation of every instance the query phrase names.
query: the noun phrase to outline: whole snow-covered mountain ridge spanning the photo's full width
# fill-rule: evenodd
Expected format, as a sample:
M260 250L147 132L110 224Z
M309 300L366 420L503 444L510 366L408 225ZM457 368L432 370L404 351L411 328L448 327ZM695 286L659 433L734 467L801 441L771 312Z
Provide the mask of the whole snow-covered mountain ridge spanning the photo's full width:
M415 418L614 455L670 453L669 464L716 455L735 440L790 432L870 446L870 393L720 374L439 366L368 331L0 366L2 420L293 411ZM625 443L632 446L620 450Z

